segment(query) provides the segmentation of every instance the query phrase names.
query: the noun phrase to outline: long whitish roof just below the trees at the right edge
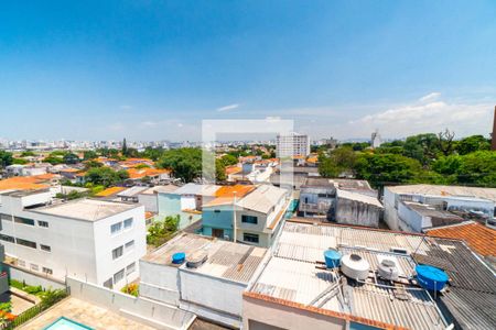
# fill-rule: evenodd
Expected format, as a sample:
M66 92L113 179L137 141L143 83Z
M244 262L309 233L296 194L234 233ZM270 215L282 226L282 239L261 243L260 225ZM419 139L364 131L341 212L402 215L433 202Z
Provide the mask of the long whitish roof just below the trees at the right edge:
M396 194L476 197L496 201L496 188L440 186L440 185L409 185L409 186L391 186L386 187L386 189Z

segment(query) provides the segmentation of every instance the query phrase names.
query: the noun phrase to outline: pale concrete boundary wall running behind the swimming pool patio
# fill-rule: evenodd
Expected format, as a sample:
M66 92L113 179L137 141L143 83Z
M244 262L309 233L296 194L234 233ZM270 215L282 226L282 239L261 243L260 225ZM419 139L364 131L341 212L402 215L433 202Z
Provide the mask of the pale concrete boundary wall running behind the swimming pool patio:
M157 329L187 329L196 316L175 306L67 277L71 296L100 306Z

